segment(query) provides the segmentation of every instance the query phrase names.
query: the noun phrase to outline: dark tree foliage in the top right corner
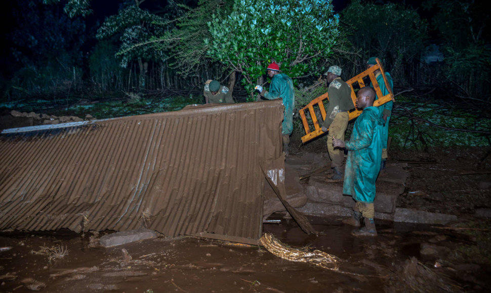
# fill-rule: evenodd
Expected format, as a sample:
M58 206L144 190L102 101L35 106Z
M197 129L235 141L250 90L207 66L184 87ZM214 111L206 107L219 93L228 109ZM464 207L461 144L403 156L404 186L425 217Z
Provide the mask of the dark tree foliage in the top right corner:
M488 94L491 50L489 12L485 2L428 0L424 6L435 11L432 29L442 36L439 41L444 55L443 76L460 94Z

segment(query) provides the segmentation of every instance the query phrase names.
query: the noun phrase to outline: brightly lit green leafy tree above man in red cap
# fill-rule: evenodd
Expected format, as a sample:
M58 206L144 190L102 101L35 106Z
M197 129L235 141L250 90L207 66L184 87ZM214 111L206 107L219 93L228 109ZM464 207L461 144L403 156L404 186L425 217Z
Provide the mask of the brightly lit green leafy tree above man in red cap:
M292 78L316 75L332 54L339 17L331 1L235 0L232 11L208 22L208 55L240 72L249 92L276 61Z

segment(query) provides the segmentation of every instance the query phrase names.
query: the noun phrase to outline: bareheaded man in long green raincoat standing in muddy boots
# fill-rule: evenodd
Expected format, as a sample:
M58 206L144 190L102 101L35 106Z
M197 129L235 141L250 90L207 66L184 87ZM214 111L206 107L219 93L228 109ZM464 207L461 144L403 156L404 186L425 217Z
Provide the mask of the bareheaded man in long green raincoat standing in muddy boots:
M357 93L356 107L363 109L353 125L349 141L334 139L333 145L346 148L348 159L344 172L343 193L356 201L353 216L343 222L360 226L363 217L365 226L351 232L353 236L377 236L375 229L375 181L380 172L382 158L382 128L384 120L374 107L375 91L368 86Z

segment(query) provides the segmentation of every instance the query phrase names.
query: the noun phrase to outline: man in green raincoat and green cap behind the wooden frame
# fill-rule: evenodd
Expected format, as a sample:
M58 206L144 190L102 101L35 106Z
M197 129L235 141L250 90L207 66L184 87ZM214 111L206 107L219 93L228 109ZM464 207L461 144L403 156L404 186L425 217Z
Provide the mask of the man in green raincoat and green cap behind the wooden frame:
M376 61L377 57L371 57L367 62L366 62L366 69L369 69L370 67L374 66L377 64ZM375 73L375 78L377 79L377 83L380 86L380 90L382 91L383 95L389 94L389 90L387 89L387 85L385 84L384 77L382 76L382 73L380 70L377 70L374 72ZM388 86L390 89L393 89L394 83L392 82L392 77L390 76L390 73L385 72L385 77L387 78L387 82L389 83ZM374 87L372 84L370 84L370 87ZM375 100L378 100L379 97L376 96ZM383 128L383 133L382 133L382 162L380 168L383 170L385 169L385 163L387 161L387 139L389 138L389 121L390 121L390 116L392 114L392 106L394 102L389 101L385 103L384 105L379 106L379 112L382 118L384 119L384 128Z

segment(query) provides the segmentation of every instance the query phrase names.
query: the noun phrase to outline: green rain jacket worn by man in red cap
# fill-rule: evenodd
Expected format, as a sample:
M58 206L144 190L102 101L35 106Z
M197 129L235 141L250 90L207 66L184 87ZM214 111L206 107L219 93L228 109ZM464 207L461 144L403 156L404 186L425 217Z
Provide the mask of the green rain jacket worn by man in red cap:
M281 134L292 134L293 132L293 106L295 103L295 93L293 91L293 82L290 77L284 73L278 73L271 79L269 91L263 90L261 96L268 100L281 98L283 100L283 124L281 124Z

